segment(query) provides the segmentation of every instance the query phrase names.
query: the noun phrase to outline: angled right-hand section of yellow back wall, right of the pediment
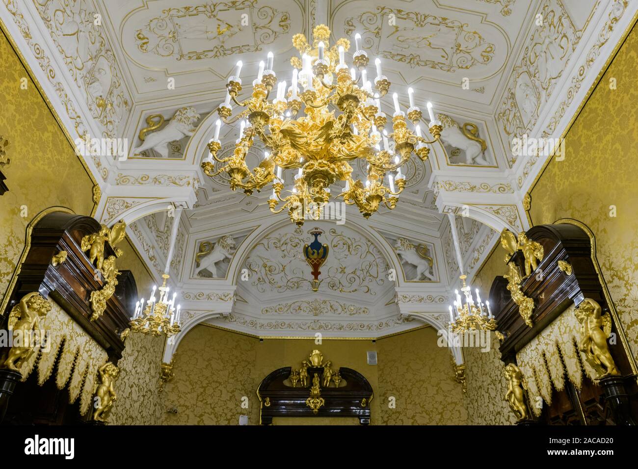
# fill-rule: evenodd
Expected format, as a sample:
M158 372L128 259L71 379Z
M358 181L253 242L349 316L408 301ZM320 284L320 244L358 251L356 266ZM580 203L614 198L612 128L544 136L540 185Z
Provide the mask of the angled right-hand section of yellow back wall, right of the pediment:
M437 345L432 327L378 341L380 424L463 425L463 387L454 379L452 354ZM396 408L389 400L394 397Z

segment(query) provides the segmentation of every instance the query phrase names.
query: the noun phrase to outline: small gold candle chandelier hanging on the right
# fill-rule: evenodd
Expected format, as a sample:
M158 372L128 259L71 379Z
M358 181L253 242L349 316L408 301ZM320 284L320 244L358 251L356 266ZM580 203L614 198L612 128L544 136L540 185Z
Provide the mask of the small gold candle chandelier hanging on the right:
M489 301L483 303L480 299L479 289L475 290L477 301L472 298L471 287L466 285L466 275L459 277L463 281L461 292L465 296L465 304L461 304L461 295L459 290L454 290L456 300L454 301L454 310L450 306L450 326L449 329L454 334L464 334L468 331L493 331L494 335L499 339L505 339L501 332L496 330L498 324L489 308ZM455 314L456 312L456 314Z

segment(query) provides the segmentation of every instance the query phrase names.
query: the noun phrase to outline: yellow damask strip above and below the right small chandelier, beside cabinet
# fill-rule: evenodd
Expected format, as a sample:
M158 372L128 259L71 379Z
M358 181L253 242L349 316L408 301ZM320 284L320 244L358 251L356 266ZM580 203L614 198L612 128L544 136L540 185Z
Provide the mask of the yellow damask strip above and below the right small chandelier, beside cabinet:
M473 279L472 286L479 288L484 295L489 293L494 278L505 272L503 257L505 249L499 243ZM470 425L510 425L516 422L514 414L503 399L507 392L507 382L503 375L505 365L501 362L498 345L499 341L494 337L489 352L482 352L477 347L463 348L468 384L464 403Z

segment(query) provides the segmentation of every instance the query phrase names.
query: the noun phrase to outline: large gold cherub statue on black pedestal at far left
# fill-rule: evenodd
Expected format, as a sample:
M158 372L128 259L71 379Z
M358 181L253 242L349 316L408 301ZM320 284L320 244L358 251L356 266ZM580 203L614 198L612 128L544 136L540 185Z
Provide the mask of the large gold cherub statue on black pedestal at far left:
M51 304L39 292L24 295L20 303L13 306L9 313L8 329L13 339L19 338L22 346L14 345L3 357L2 368L20 371L24 362L29 360L39 345L33 339L33 332L40 331L40 318L51 311Z

